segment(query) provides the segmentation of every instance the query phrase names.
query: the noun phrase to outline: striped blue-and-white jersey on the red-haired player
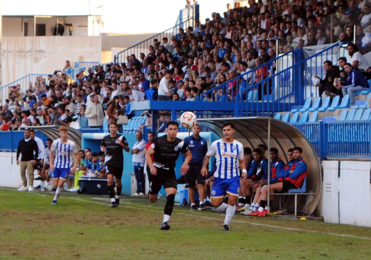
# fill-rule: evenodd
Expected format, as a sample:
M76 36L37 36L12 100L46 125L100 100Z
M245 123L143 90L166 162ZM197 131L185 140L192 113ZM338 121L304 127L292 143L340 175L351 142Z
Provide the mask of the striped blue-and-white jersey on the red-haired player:
M72 154L78 152L74 142L67 139L66 143L62 143L60 138L54 140L50 151L55 152L54 167L63 169L73 166Z

